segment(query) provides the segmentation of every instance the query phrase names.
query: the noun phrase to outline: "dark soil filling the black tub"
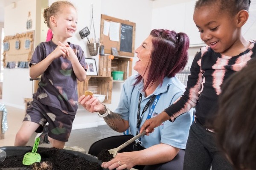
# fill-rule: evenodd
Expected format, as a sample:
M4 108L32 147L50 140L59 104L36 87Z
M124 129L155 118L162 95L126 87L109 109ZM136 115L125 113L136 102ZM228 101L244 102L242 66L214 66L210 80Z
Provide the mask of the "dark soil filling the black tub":
M31 151L29 151L31 152ZM26 166L22 164L23 156L7 156L3 162L0 162L0 169L16 169L16 167L24 167L24 169L32 169L32 165ZM52 170L102 170L102 167L96 162L87 161L83 157L75 156L56 148L41 147L37 153L41 155L41 161L52 163Z

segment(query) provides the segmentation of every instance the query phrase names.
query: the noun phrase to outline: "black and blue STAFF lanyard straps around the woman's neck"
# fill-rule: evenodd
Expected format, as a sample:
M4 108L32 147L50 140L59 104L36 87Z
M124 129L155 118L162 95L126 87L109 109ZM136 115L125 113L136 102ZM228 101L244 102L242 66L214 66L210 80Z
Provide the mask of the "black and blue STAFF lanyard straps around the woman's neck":
M142 101L142 94L140 93L140 98L139 98L139 104L138 104L138 112L137 112L137 132L136 132L136 135L139 134L139 130L140 130L140 121L141 121L141 117L143 116L143 114L145 113L145 111L147 110L148 106L151 104L151 102L154 100L154 103L150 109L150 112L148 113L148 116L147 116L147 119L150 119L151 118L151 115L154 111L154 108L156 107L157 105L157 102L160 98L160 94L158 94L157 96L153 95L149 101L147 102L147 104L145 105L145 107L143 108L143 111L141 113L141 116L140 116L140 103ZM146 119L146 120L147 120Z

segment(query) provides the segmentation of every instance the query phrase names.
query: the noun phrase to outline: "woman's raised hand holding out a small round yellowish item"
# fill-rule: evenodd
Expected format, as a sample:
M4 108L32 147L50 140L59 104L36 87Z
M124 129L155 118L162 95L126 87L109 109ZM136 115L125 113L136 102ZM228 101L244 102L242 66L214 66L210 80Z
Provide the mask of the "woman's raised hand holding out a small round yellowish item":
M95 96L82 95L79 97L78 102L90 112L103 113L105 111L105 106L99 101Z

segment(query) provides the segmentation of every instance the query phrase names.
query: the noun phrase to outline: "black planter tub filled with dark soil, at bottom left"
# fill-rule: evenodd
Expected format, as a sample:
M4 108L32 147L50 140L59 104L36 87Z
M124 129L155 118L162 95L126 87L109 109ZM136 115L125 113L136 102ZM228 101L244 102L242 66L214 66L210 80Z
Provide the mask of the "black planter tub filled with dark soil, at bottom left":
M32 152L31 146L0 147L6 151L6 159L0 162L0 170L32 170L32 165L22 164L23 156ZM52 170L108 170L102 168L97 157L74 150L38 147L41 161L51 162Z

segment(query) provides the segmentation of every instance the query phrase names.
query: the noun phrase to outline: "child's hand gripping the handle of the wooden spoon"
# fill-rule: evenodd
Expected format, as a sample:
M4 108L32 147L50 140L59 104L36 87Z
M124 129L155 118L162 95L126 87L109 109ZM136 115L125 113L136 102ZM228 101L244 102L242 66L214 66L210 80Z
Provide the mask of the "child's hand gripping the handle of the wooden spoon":
M146 135L148 136L149 133L154 132L155 127L160 126L163 122L169 119L169 115L163 111L158 116L146 120L140 127L140 133L142 133L143 130L146 130Z

